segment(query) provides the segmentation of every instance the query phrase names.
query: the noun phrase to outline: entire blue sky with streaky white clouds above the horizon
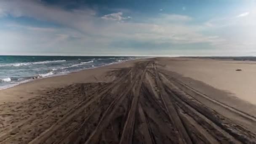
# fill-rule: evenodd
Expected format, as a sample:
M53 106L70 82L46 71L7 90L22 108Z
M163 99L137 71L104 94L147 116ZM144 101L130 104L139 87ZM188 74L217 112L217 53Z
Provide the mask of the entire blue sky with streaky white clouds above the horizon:
M0 55L256 56L256 0L0 0Z

